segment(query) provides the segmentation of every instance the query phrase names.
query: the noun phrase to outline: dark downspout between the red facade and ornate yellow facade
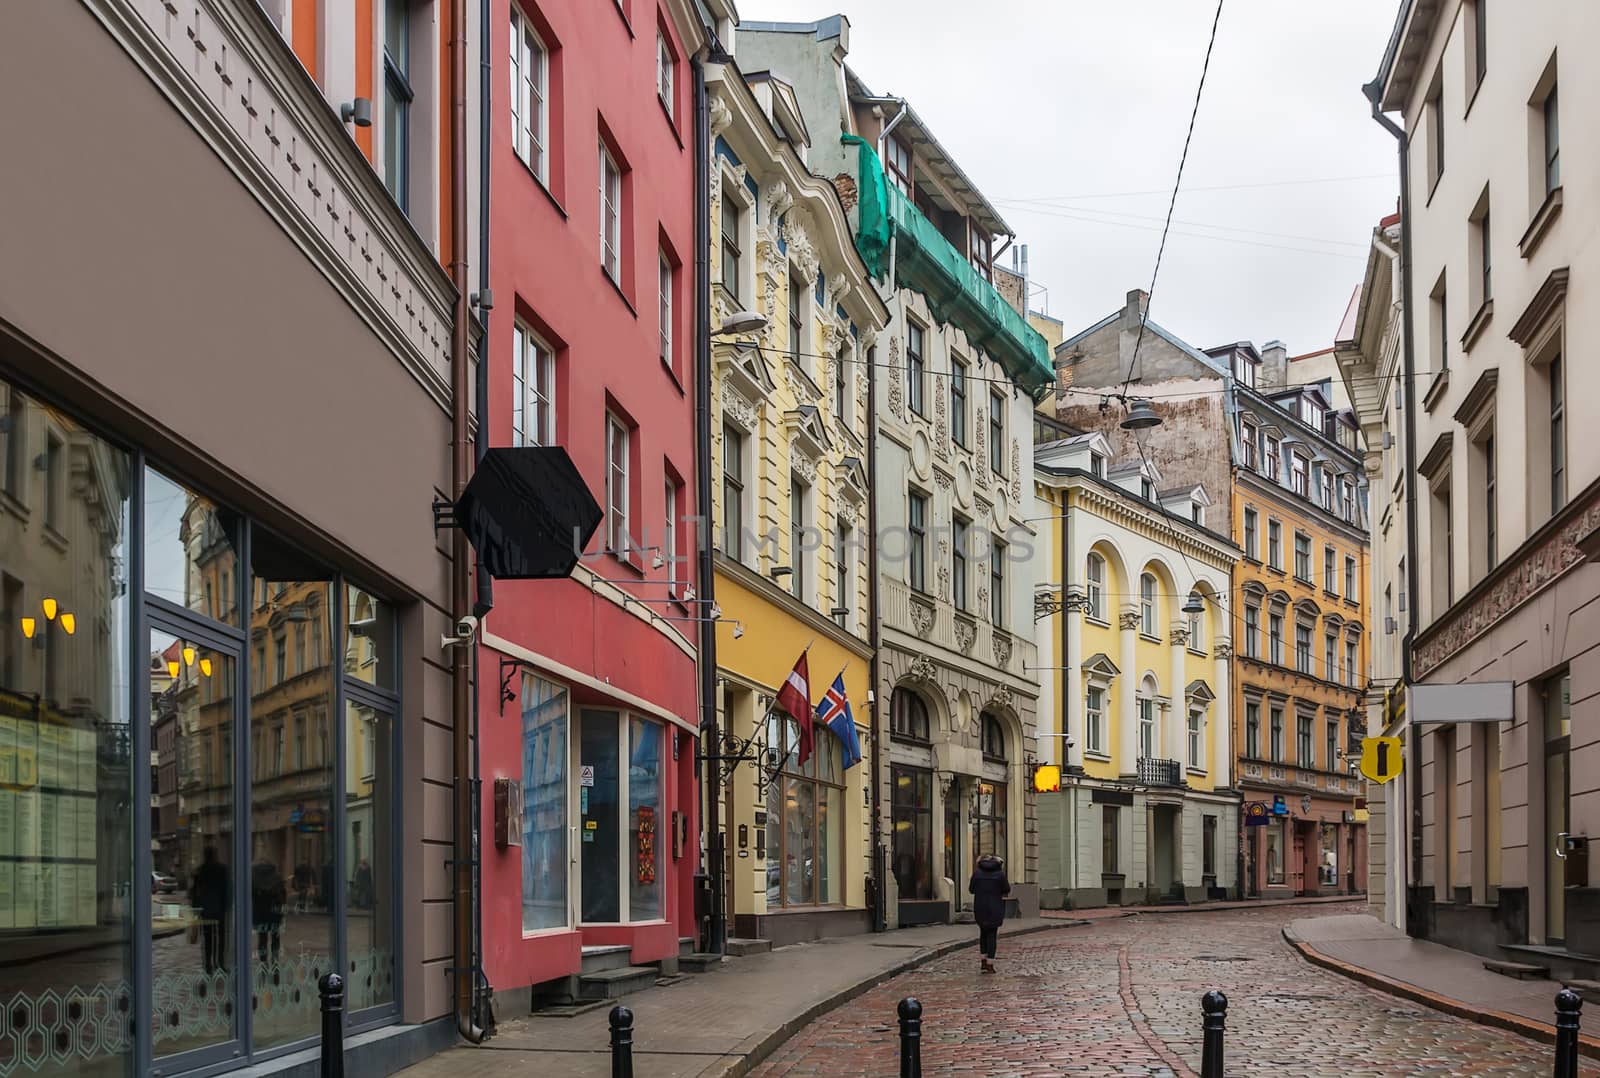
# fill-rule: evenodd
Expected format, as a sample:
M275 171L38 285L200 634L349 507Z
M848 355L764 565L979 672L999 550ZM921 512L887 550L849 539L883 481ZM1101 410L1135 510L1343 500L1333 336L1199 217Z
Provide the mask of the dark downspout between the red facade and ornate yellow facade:
M715 43L715 38L712 38ZM706 94L706 53L696 56L694 67L694 501L699 526L699 600L701 611L712 609L717 598L712 544L710 489L710 98ZM722 862L722 785L720 765L709 757L722 755L717 729L717 622L699 622L699 696L701 753L699 782L706 797L706 875L710 880L710 923L706 928L706 950L720 955L726 940L723 912Z

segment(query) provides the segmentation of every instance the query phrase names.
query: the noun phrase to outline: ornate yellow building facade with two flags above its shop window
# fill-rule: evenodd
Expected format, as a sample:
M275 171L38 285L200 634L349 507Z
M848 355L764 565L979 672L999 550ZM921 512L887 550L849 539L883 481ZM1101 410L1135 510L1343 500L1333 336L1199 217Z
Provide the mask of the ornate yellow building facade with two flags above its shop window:
M717 709L723 755L744 757L718 773L725 915L782 945L869 928L867 358L888 312L802 158L792 88L723 67L709 93L712 326L766 320L712 349ZM798 760L776 697L802 653L813 709L843 678L861 765L821 723Z

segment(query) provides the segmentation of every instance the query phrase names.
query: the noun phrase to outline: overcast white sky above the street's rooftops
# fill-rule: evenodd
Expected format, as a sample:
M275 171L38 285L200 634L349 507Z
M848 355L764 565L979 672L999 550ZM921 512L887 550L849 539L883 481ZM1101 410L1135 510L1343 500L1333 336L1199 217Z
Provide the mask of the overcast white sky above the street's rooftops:
M1395 208L1362 83L1397 8L1226 0L1150 307L1166 329L1333 344ZM739 0L746 21L840 11L850 66L909 98L1029 245L1035 309L1072 334L1149 288L1213 0Z

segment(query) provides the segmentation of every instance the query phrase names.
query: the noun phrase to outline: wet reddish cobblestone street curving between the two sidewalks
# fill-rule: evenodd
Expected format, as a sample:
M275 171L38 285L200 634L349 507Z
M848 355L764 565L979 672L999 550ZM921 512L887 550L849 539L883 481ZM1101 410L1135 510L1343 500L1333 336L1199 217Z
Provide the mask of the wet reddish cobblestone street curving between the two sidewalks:
M1040 932L1003 940L997 976L981 976L966 950L824 1016L752 1073L894 1075L894 1004L914 995L928 1075L1192 1075L1210 988L1229 998L1229 1075L1549 1073L1546 1044L1307 964L1282 939L1294 916L1141 915ZM1582 1073L1600 1070L1586 1062Z

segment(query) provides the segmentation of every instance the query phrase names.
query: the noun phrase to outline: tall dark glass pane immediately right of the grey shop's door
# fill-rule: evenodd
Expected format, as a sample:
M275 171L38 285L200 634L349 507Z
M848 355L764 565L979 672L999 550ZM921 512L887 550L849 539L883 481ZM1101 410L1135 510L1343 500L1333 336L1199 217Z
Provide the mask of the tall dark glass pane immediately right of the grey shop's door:
M317 1033L317 980L333 968L333 589L264 529L250 545L250 635L272 656L250 699L251 1008L262 1049Z

